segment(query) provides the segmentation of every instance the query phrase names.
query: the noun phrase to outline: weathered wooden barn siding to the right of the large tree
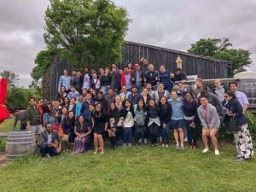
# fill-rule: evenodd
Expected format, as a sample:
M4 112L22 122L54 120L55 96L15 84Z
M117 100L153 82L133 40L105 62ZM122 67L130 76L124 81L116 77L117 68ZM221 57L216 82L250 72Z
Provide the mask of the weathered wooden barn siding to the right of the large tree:
M158 69L165 65L167 69L173 70L177 67L177 55L183 60L183 71L188 75L198 75L203 79L228 78L228 67L230 61L212 59L202 55L191 55L182 51L165 49L146 44L126 42L123 45L123 61L119 67L127 63L136 63L140 58L145 57L149 63L153 63Z

